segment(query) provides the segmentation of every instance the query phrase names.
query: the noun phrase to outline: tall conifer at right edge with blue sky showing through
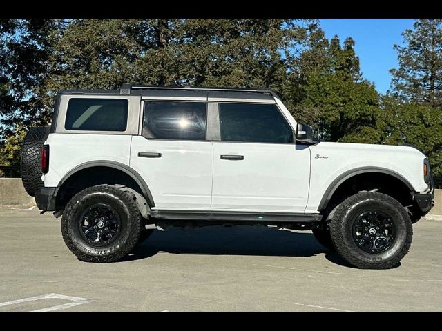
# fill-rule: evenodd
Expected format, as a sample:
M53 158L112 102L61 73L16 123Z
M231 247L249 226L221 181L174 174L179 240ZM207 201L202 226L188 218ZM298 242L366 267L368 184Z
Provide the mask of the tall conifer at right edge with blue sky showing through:
M393 95L442 108L442 19L419 19L395 45L399 68L392 69Z

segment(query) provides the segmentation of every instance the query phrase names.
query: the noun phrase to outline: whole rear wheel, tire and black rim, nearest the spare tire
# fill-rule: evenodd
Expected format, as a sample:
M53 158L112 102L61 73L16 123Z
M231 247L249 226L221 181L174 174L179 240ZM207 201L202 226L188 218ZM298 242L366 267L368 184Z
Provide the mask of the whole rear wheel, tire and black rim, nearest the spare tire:
M61 234L81 261L114 262L135 247L142 232L131 194L99 185L76 194L63 212Z

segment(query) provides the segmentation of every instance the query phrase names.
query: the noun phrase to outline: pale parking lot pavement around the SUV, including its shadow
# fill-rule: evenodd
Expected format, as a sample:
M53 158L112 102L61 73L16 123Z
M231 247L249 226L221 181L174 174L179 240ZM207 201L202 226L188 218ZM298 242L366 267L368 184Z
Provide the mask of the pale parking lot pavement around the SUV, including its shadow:
M59 219L0 209L0 312L442 311L442 221L414 225L398 268L358 270L311 232L155 231L126 260L78 261Z

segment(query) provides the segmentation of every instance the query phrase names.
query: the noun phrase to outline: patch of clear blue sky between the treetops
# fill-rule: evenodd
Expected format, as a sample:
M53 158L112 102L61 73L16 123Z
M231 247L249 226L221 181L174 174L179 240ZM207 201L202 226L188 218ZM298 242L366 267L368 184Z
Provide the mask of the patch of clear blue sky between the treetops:
M402 44L401 33L412 28L414 19L321 19L328 39L337 34L343 41L352 37L361 63L363 77L374 82L381 93L390 88L390 72L398 67L393 45Z

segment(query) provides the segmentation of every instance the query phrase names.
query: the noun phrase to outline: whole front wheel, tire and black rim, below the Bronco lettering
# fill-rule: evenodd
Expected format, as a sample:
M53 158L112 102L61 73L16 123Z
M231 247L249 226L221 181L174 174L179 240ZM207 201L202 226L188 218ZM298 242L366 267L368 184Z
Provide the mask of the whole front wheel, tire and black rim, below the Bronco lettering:
M359 192L340 203L330 222L336 252L363 269L387 269L407 254L413 237L401 203L378 192Z

